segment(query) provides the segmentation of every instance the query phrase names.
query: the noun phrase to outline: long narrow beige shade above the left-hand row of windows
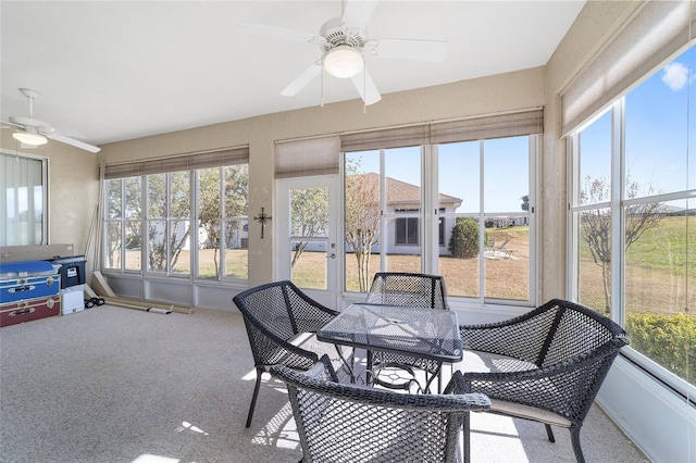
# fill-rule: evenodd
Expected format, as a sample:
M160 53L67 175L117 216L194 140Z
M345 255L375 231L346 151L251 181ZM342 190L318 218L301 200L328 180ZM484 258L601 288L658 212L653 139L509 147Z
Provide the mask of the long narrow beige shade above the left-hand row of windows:
M192 171L220 167L222 165L246 164L249 162L249 147L202 151L166 158L151 158L133 162L107 164L104 178L124 178L140 175L164 174L169 172Z

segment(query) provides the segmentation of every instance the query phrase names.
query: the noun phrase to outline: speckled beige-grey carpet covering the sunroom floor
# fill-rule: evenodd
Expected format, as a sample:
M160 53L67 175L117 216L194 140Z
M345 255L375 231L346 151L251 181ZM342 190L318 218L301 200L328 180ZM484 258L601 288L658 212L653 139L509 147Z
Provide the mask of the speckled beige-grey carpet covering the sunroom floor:
M1 462L297 462L284 385L261 388L241 316L96 306L0 329ZM573 462L569 433L477 413L472 462ZM588 462L646 461L594 408Z

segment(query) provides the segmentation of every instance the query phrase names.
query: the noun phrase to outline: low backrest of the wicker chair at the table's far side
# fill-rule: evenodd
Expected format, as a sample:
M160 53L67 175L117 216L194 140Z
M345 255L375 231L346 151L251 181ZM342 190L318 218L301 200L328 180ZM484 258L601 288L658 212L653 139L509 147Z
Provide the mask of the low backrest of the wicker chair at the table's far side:
M365 302L388 305L449 309L445 279L439 275L378 272Z

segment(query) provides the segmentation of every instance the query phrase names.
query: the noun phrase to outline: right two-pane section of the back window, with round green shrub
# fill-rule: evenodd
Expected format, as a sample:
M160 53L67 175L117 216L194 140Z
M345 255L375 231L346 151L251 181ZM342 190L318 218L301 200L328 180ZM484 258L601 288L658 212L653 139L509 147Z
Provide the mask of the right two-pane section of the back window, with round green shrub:
M447 252L439 254L449 295L531 300L532 211L523 200L534 185L531 138L536 140L525 136L438 147L439 195L461 198L459 208L445 213L453 228Z

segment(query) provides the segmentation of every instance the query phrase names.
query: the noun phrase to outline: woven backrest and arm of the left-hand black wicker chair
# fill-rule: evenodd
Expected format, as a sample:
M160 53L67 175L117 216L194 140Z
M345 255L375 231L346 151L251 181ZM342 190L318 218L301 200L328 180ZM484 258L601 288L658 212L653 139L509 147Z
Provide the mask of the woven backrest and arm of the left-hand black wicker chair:
M289 280L247 289L233 301L244 315L257 365L277 363L278 346L299 351L299 348L288 347L287 341L300 333L316 333L338 314L309 298ZM299 367L310 367L315 360L316 355L313 355L313 360L296 359L296 362L301 363L297 365Z

